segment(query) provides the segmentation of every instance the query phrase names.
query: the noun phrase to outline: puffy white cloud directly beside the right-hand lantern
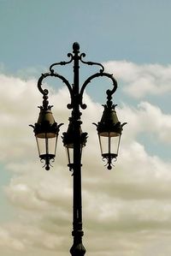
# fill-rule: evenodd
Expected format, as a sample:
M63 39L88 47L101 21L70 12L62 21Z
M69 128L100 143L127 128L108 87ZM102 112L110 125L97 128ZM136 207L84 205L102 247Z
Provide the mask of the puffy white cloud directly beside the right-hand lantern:
M142 101L137 108L123 105L120 110L123 120L127 120L128 128L125 127L125 140L135 140L138 134L149 133L155 136L155 140L163 144L170 144L171 115L149 102Z

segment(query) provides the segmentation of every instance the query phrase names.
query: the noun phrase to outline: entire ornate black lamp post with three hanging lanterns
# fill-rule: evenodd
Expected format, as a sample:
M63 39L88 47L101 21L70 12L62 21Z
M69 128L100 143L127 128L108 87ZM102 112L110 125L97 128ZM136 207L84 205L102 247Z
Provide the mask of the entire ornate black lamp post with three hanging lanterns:
M82 132L81 129L81 112L80 108L85 110L86 104L83 103L83 94L85 87L97 77L107 77L111 80L113 88L107 90L107 103L103 105L103 116L100 122L95 124L97 126L97 134L99 138L100 149L102 157L106 160L106 165L109 170L112 169L112 161L116 159L118 155L121 131L125 122L121 124L118 121L115 112L115 104L112 103L112 95L117 88L117 82L112 74L104 72L103 65L100 63L85 62L83 58L85 53L80 54L80 45L74 43L73 54L68 53L70 58L68 62L53 63L50 66L50 72L42 74L38 79L38 90L43 94L43 105L40 106L40 113L38 116L38 122L35 125L31 125L34 129L34 134L38 145L38 154L41 161L44 161L44 167L46 170L50 170L50 161L54 160L56 156L56 143L59 134L59 128L62 123L57 124L51 112L51 105L48 102L48 90L42 88L42 82L45 78L51 76L58 78L68 87L71 102L68 104L68 109L72 110L69 117L69 124L67 132L63 133L62 140L63 145L68 153L68 167L73 171L73 232L74 243L70 249L72 256L83 256L85 254L85 247L82 243L82 236L84 235L82 230L82 200L81 200L81 153L82 148L86 144L87 133ZM69 81L58 74L53 69L57 65L68 65L74 63L74 82L71 85ZM100 66L99 72L92 74L88 77L82 86L80 86L80 63L85 65L97 65Z

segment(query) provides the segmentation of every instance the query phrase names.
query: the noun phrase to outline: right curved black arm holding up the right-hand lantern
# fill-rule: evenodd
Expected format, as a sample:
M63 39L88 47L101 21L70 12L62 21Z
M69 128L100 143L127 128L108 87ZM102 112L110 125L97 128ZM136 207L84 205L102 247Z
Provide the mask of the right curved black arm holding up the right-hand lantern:
M97 63L98 64L98 63ZM114 94L114 92L117 89L117 81L115 80L113 74L109 74L109 73L104 73L102 70L100 70L100 72L96 73L96 74L92 74L90 77L88 77L85 82L83 83L81 89L80 89L80 106L82 109L86 108L86 104L83 104L82 99L83 99L83 93L85 91L85 87L91 82L91 80L93 80L94 78L97 78L99 76L104 76L104 77L108 77L110 80L112 80L113 83L113 89L112 90L107 90L106 93L108 95L108 97L111 98L112 94Z

